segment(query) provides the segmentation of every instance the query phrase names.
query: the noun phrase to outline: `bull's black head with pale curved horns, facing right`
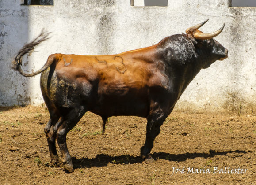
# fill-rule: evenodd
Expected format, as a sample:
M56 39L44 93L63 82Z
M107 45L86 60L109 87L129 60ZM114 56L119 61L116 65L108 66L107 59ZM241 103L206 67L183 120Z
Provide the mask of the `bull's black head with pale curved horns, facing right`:
M202 49L202 51L206 52L206 54L209 54L208 56L211 56L211 60L213 62L215 60L223 60L228 57L228 50L222 46L222 44L218 43L213 38L216 37L218 34L220 34L225 26L225 23L222 25L222 27L213 32L213 33L203 33L202 31L198 30L201 26L203 26L209 19L206 21L197 24L195 26L192 26L186 30L187 36L191 38L191 40L194 40L194 44ZM212 63L213 63L212 62ZM209 67L211 64L210 61L206 63L206 65L203 68Z

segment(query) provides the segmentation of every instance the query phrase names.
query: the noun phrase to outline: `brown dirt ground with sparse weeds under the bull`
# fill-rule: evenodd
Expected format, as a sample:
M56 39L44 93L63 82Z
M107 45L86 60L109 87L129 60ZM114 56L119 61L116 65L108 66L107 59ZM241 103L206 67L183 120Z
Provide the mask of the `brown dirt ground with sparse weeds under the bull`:
M74 172L50 163L44 106L0 108L0 184L256 184L253 113L173 112L142 162L146 120L86 113L68 134ZM58 150L60 153L60 151Z

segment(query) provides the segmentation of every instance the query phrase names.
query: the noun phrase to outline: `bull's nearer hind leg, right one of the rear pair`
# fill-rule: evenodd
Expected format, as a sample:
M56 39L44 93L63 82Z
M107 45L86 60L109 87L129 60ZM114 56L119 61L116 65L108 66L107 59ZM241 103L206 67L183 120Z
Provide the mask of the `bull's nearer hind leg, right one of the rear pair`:
M67 133L73 129L74 126L76 126L77 122L79 122L80 118L83 117L85 112L84 107L74 108L73 110L69 111L69 113L63 117L63 123L60 124L59 128L57 129L56 136L62 153L63 167L68 172L73 171L73 164L67 147L66 136Z

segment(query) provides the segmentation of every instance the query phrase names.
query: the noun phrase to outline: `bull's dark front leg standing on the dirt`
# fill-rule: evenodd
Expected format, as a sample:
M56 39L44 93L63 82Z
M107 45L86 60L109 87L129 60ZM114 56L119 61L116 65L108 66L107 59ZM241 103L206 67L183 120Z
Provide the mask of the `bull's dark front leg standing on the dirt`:
M153 159L150 156L150 151L153 148L155 138L160 133L160 126L167 117L168 114L164 113L162 110L157 110L155 113L148 116L146 141L141 147L141 157L143 160Z

